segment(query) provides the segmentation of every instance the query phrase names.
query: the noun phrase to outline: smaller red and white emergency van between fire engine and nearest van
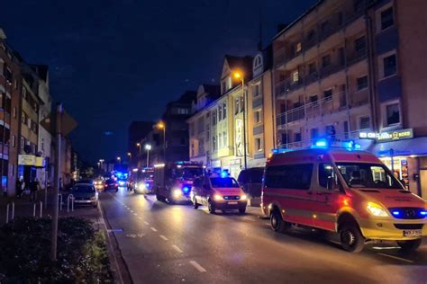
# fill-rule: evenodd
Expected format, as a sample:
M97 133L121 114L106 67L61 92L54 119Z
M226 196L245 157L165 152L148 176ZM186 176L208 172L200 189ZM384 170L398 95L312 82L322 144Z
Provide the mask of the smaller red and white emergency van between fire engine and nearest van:
M241 190L239 182L228 176L228 173L196 178L190 195L195 209L198 209L199 205L205 205L211 214L214 214L216 209L223 212L234 209L244 214L248 204L248 198Z

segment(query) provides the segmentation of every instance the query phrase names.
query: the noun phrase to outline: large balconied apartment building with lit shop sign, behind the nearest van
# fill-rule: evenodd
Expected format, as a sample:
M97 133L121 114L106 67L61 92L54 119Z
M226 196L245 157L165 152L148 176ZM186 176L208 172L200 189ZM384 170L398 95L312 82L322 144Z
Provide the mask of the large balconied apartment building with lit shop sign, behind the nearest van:
M280 31L273 41L277 146L357 139L425 197L426 53L416 33L426 26L425 7L325 0Z

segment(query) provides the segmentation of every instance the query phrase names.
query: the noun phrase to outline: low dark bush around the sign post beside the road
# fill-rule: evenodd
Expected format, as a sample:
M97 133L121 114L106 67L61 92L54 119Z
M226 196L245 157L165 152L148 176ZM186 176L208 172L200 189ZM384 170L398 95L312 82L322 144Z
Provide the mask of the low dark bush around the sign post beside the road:
M59 218L58 260L50 261L49 218L18 218L0 228L1 283L111 283L104 235L90 222Z

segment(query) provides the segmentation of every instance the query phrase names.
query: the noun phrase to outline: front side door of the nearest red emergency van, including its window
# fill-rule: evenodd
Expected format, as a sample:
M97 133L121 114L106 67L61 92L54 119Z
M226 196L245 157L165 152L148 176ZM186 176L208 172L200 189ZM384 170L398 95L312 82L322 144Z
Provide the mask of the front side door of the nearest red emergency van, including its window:
M316 227L334 231L337 211L345 205L345 193L332 164L319 164L317 173L313 223Z

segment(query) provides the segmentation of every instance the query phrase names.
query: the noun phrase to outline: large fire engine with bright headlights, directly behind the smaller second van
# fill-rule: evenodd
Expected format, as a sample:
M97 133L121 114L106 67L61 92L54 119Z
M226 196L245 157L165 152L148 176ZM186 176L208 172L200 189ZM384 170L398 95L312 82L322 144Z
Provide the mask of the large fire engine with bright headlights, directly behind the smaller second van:
M168 201L169 204L190 201L193 181L203 174L203 165L195 162L155 164L153 191L157 200Z

